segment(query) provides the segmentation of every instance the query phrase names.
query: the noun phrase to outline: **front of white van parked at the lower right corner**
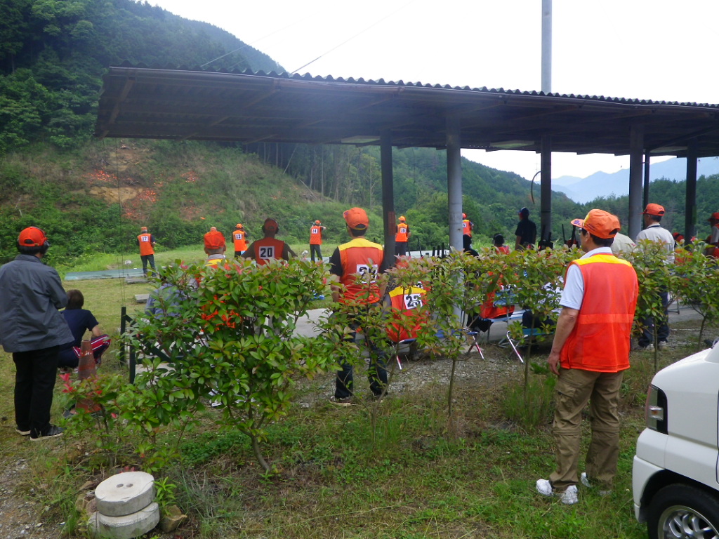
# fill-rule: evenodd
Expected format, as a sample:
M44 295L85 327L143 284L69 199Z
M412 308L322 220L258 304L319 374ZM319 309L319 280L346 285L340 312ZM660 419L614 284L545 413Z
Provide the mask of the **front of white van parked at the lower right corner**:
M632 472L649 538L719 538L718 410L719 346L654 375Z

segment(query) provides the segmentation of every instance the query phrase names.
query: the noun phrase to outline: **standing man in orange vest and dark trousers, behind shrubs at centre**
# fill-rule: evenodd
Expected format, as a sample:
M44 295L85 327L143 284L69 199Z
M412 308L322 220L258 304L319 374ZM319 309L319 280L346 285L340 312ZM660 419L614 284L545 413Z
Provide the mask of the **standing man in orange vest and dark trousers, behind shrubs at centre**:
M380 290L375 280L379 272L385 270L384 249L380 244L365 239L370 228L370 218L362 208L350 208L343 213L347 223L347 233L352 238L342 244L329 258L329 272L339 278L338 285L331 285L332 299L335 302L349 305L367 305L367 308L381 308L384 290ZM362 280L358 282L358 278ZM354 341L359 323L351 323L352 333L347 338ZM368 343L370 354L370 390L372 395L380 397L387 386L387 369L384 357L386 354L372 342ZM334 395L330 402L338 406L352 405L352 385L354 369L352 364L342 361L341 370L337 372Z

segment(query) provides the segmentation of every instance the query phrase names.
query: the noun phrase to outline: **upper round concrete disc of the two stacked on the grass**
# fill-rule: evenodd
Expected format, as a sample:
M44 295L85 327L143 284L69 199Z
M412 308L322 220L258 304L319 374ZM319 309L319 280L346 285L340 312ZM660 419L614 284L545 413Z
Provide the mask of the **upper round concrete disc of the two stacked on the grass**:
M145 471L126 471L105 479L95 489L97 510L106 517L132 515L155 499L155 478ZM157 522L155 522L157 524Z

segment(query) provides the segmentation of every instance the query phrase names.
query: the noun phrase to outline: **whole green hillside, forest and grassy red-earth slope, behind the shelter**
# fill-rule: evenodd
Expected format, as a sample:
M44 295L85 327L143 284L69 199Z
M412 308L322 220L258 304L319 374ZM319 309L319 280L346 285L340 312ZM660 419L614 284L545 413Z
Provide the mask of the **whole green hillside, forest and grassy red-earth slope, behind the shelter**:
M344 239L341 211L365 206L380 226L377 147L204 144L91 139L101 76L128 60L162 67L281 70L219 28L132 0L0 0L0 262L14 234L34 224L55 238L55 257L134 249L140 224L164 247L197 244L212 221L224 230L267 215L290 241L316 218ZM412 247L446 243L446 155L395 149L395 209ZM462 160L464 211L478 242L513 233L528 206L539 222L539 187ZM554 238L580 215L554 195Z

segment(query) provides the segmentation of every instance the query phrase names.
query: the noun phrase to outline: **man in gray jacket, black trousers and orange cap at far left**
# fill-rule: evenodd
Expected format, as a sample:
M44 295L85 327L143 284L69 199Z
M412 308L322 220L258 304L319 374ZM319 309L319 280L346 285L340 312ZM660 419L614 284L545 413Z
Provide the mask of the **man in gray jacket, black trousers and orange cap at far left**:
M45 232L20 232L20 254L0 267L0 344L15 363L17 432L32 441L55 438L63 429L50 423L52 389L60 345L73 341L58 309L68 303L60 275L42 263L50 247Z

